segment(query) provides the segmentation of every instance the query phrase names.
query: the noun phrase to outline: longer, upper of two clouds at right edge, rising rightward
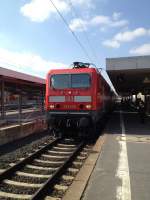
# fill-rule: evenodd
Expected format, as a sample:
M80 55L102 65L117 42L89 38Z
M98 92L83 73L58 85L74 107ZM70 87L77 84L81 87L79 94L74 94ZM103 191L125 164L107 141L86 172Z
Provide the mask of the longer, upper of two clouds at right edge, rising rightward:
M109 46L112 48L116 48L116 46L111 45L111 44L118 44L118 47L121 45L121 43L124 42L131 42L139 37L143 37L143 36L148 36L150 35L150 30L145 29L145 28L137 28L133 31L125 31L125 32L120 32L118 34L116 34L112 39L103 41L103 45L104 46ZM110 45L108 45L107 41L109 41Z

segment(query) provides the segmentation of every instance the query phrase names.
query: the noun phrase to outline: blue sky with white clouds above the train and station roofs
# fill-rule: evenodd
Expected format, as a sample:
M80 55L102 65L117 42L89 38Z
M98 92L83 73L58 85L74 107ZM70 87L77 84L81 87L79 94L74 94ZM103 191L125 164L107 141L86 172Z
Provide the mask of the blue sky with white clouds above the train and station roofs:
M50 69L66 68L74 61L92 62L105 70L106 58L150 55L149 0L0 0L0 4L2 67L45 78Z

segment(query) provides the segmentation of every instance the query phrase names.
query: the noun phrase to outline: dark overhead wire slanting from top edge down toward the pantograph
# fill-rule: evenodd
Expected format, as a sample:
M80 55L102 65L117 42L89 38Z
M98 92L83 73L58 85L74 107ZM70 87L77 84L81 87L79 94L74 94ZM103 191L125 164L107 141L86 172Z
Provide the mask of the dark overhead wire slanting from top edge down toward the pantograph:
M75 32L70 28L67 20L64 18L64 16L61 14L61 12L59 11L59 9L57 8L57 6L55 5L55 3L53 2L53 0L49 0L50 3L53 5L53 7L56 9L58 15L61 17L61 19L63 20L64 24L67 26L67 28L69 29L69 31L72 33L73 37L75 38L76 42L79 44L79 46L81 47L81 49L83 50L83 52L85 53L86 57L88 58L88 60L90 62L92 62L92 59L90 58L86 48L84 47L84 45L80 42L79 38L76 36Z

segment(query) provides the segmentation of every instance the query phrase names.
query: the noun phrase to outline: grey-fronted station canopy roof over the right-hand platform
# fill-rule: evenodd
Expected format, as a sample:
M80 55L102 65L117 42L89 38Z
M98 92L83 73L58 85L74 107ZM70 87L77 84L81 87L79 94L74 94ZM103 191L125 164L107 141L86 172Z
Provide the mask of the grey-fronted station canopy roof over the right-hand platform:
M150 94L150 56L107 58L106 70L119 95Z

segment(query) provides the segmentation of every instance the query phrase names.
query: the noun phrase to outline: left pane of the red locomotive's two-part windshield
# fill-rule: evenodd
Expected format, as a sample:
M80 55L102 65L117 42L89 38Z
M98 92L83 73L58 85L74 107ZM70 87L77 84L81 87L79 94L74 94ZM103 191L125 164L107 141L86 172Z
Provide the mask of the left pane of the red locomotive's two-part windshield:
M51 86L55 89L69 88L69 76L67 74L57 74L51 77Z

